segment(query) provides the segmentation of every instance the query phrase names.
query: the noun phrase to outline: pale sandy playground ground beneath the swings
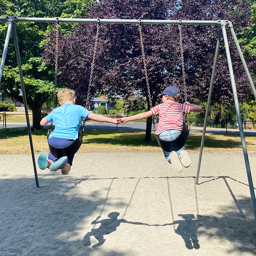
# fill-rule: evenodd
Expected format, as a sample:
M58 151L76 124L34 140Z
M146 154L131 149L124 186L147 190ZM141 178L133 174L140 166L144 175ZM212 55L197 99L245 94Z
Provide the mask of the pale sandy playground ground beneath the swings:
M176 173L162 153L77 153L39 188L30 154L0 155L0 255L255 255L243 154L203 153L199 185L189 154Z

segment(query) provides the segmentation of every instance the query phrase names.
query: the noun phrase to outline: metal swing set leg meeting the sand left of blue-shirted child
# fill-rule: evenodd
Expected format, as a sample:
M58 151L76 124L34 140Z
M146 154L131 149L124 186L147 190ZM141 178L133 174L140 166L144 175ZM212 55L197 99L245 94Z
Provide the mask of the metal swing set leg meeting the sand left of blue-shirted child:
M26 98L26 92L25 92L25 87L24 87L23 73L22 73L22 67L21 67L20 55L19 55L18 38L17 38L17 33L16 33L15 25L16 25L15 22L13 22L13 38L14 38L14 44L15 44L18 68L19 68L19 77L20 77L20 84L21 84L21 89L22 89L22 96L23 96L25 113L26 113L26 119L27 119L28 136L29 136L30 149L31 149L32 161L33 161L33 166L34 166L36 186L39 188L37 171L36 171L36 161L35 161L34 147L33 147L33 142L32 142L32 134L31 134L31 128L30 128L30 121L29 121L29 116L28 116L27 98Z

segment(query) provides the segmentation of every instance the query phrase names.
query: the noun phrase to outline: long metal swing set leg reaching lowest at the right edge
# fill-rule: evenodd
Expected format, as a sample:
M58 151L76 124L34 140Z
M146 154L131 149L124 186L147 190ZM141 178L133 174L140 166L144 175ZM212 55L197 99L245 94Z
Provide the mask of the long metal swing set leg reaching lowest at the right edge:
M224 38L224 42L225 42L225 48L226 48L226 54L227 54L227 60L228 60L228 68L229 68L229 73L230 73L234 102L235 102L235 106L236 106L236 113L237 113L240 137L241 137L241 142L242 142L243 155L244 155L244 161L245 161L246 172L247 172L247 177L248 177L248 183L249 183L249 188L250 188L250 193L251 193L254 220L255 220L255 224L256 224L256 200L255 200L255 194L254 194L254 187L253 187L253 183L252 183L252 175L251 175L251 168L250 168L250 164L249 164L248 152L247 152L246 142L245 142L245 138L244 138L243 123L242 123L242 119L241 119L239 102L238 102L238 98L237 98L237 89L236 89L234 73L233 73L233 68L232 68L232 62L231 62L231 57L230 57L230 52L229 52L228 38L227 38L227 33L226 33L226 24L222 24L221 28L222 28L223 38Z

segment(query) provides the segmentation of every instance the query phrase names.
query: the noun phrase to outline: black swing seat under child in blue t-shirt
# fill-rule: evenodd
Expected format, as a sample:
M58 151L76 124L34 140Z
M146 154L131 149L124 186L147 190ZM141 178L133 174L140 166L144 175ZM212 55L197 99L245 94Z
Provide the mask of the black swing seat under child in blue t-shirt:
M49 150L51 154L58 159L61 158L62 156L67 156L68 158L73 156L75 153L77 153L77 151L79 150L83 142L83 133L79 132L78 138L74 140L70 145L66 147L54 147L49 143L49 140L48 140L49 135L50 135L50 132L48 131L47 142L48 142Z

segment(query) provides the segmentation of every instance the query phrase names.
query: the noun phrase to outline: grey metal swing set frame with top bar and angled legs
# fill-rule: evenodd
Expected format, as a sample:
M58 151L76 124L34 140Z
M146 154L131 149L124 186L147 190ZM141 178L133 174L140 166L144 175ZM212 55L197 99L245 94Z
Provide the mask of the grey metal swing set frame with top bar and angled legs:
M228 67L229 67L229 73L230 73L230 79L231 79L231 85L232 85L232 91L233 91L233 96L234 96L234 103L235 103L235 107L236 107L236 114L237 114L237 119L238 119L238 124L239 124L239 131L240 131L240 137L241 137L241 142L242 142L244 161L245 161L245 165L246 165L248 183L249 183L249 188L250 188L250 195L251 195L251 200L252 200L254 219L255 219L255 224L256 224L256 199L255 199L255 194L254 194L254 188L253 188L253 182L252 182L252 176L251 176L251 169L250 169L250 164L249 164L248 152L247 152L247 147L246 147L246 142L245 142L245 137L244 137L244 131L243 131L241 113L240 113L240 108L239 108L239 102L238 102L238 97L237 97L237 90L236 90L236 85L235 85L235 81L234 81L234 73L233 73L233 68L232 68L232 62L231 62L228 39L227 39L227 32L226 32L227 27L230 29L230 32L232 34L234 43L237 47L241 62L243 64L244 70L247 74L247 78L249 80L249 83L250 83L250 86L251 86L251 89L252 89L252 92L253 92L253 95L254 95L255 99L256 99L256 90L255 90L253 81L251 79L251 76L250 76L248 67L246 65L246 62L244 60L244 57L243 57L241 48L239 46L236 34L234 32L233 25L230 21L228 21L228 20L71 19L71 18L30 18L30 17L28 17L28 18L25 18L25 17L0 17L0 21L8 22L7 34L6 34L6 39L5 39L1 64L0 64L0 84L1 84L1 79L2 79L2 75L3 75L4 63L5 63L5 59L6 59L10 34L11 34L11 31L13 30L15 51L16 51L18 69L19 69L19 75L20 75L20 84L21 84L22 93L23 93L23 101L24 101L24 106L25 106L29 142L30 142L32 161L33 161L33 167L34 167L35 180L36 180L36 186L37 187L39 187L39 183L38 183L37 170L36 170L36 161L35 161L32 135L31 135L31 129L30 129L30 121L29 121L29 116L28 116L26 92L25 92L25 87L24 87L22 66L21 66L21 61L20 61L18 39L17 39L17 33L16 33L16 23L17 22L48 22L48 23L56 23L56 24L58 24L60 22L61 23L65 23L65 22L67 22L67 23L95 23L95 24L97 24L98 27L99 27L100 23L105 23L105 24L107 24L107 23L108 24L113 24L113 23L115 23L115 24L138 24L139 29L140 29L141 39L142 39L142 35L141 35L141 28L140 27L141 27L142 24L144 24L144 25L146 25L146 24L151 24L151 25L152 24L164 24L164 25L176 24L180 27L181 27L181 25L216 25L216 26L218 26L218 37L217 37L214 64L213 64L213 69L212 69L211 82L210 82L210 88L209 88L209 94L208 94L208 100L207 100L207 107L206 107L205 120L204 120L204 128L203 128L203 132L202 132L202 139L201 139L201 145L200 145L200 154L199 154L199 160L198 160L196 184L198 184L201 158L202 158L202 150L203 150L204 140L205 140L207 117L208 117L208 113L209 113L209 107L210 107L210 101L211 101L211 95L212 95L212 89L213 89L213 83L214 83L214 76L215 76L215 71L216 71L216 66L217 66L217 58L218 58L218 53L219 53L220 40L221 40L221 36L223 36L225 49L226 49L226 55L227 55L227 61L228 61ZM98 32L98 29L97 29L97 32ZM97 39L97 35L96 35L96 39ZM96 42L95 42L95 44L96 44ZM149 91L147 73L146 73L145 54L144 54L143 44L142 44L142 53L143 53L143 62L144 62L144 68L145 68L148 94L149 94L149 97L150 97L150 91ZM182 52L181 52L181 54L182 54ZM94 61L94 59L93 59L93 61ZM92 65L91 74L92 74L92 71L93 71L93 65ZM183 72L184 72L184 70L183 70ZM89 94L90 94L90 84L89 84L89 87L88 87L87 100L89 100Z

